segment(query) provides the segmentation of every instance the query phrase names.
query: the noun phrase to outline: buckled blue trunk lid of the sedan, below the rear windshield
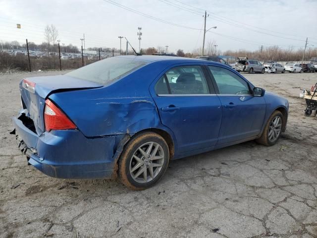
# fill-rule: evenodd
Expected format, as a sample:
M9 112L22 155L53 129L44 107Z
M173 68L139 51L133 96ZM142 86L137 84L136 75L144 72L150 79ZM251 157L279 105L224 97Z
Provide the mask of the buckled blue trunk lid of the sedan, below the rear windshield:
M103 85L67 75L24 78L20 82L20 94L25 116L33 120L36 133L41 134L45 131L45 100L50 94L99 87Z

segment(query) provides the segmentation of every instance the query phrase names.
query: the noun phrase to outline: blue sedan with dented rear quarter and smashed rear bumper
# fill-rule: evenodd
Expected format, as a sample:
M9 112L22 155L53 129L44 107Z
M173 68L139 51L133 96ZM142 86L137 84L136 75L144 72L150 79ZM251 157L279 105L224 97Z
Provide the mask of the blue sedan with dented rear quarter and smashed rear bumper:
M145 189L170 160L256 139L274 145L288 101L217 62L121 56L24 78L13 118L28 163L48 176L119 176Z

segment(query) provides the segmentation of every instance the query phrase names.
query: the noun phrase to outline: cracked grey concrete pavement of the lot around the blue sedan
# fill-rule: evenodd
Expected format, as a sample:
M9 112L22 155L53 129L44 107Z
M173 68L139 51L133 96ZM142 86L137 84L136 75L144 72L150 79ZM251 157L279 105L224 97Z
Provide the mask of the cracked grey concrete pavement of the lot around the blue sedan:
M317 120L304 117L299 88L317 73L243 74L286 97L286 133L172 161L145 191L117 180L53 179L32 166L9 135L23 77L0 75L0 238L316 238Z

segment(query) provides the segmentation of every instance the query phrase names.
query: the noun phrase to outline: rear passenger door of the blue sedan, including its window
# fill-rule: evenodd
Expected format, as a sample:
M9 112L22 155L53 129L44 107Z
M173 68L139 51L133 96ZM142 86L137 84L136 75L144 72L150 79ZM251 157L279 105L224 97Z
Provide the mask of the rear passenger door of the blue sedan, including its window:
M176 137L178 153L213 147L217 143L222 109L206 68L171 67L154 85L151 94L162 124Z

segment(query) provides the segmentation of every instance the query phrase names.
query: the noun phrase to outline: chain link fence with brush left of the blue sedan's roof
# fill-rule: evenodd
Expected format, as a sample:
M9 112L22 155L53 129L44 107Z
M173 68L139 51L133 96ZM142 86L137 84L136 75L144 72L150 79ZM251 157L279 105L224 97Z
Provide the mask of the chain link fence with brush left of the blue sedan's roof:
M29 49L26 40L26 48L0 49L0 72L76 69L119 55L119 52L114 51L103 52L101 48L98 51L81 49L81 52L67 53L59 44L55 51Z

